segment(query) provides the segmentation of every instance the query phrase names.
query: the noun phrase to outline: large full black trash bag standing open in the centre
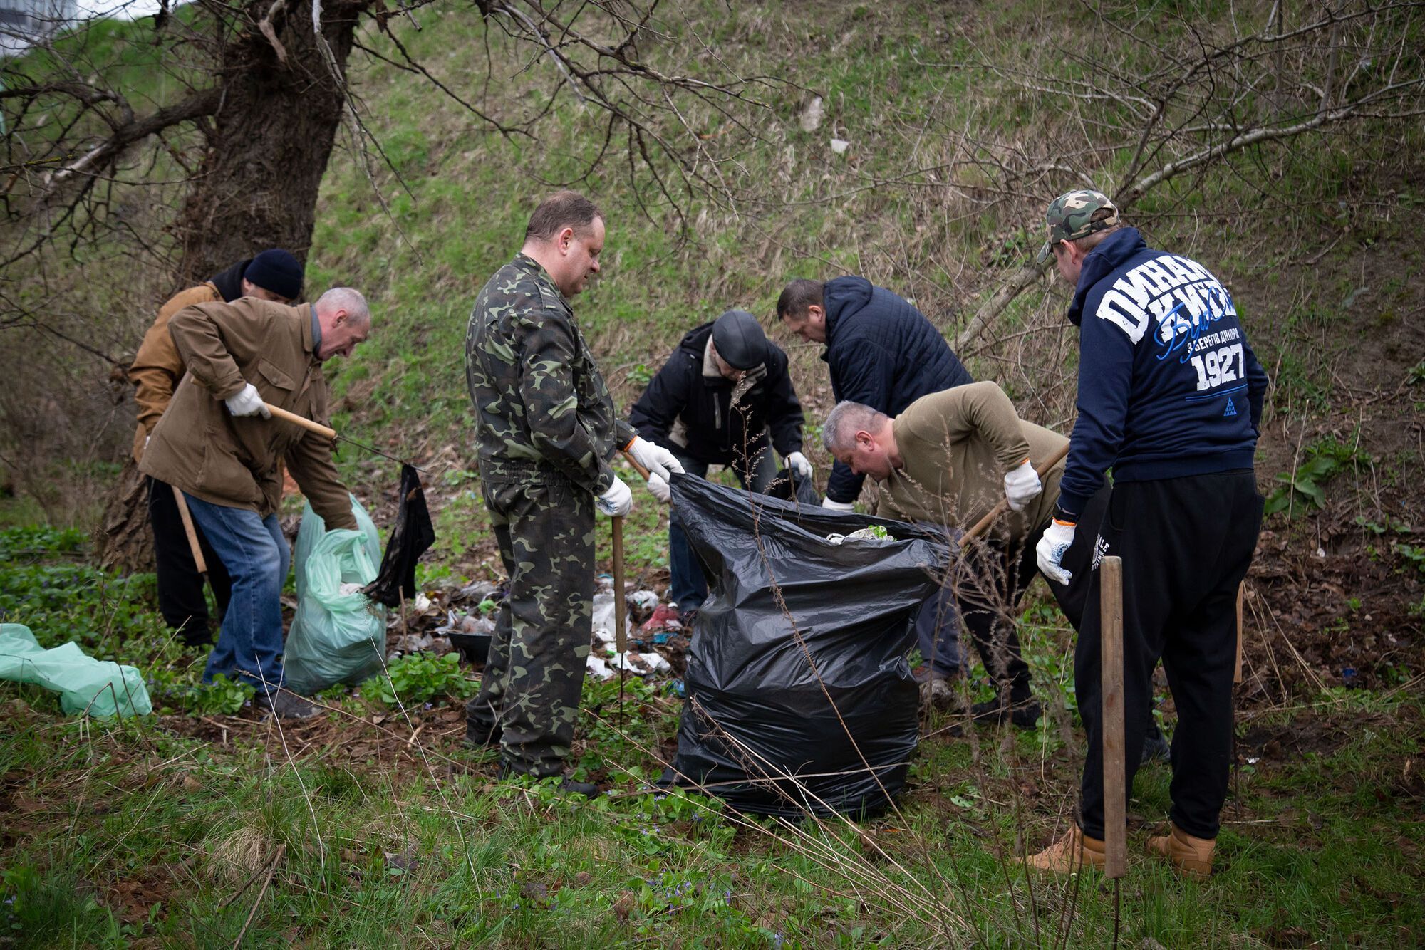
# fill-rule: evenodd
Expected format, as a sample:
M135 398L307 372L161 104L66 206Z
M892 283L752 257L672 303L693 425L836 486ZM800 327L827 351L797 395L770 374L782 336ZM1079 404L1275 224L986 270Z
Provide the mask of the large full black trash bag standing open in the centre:
M945 538L678 474L673 503L711 583L688 647L677 781L760 815L885 809L919 738L906 654ZM826 540L872 524L892 540Z

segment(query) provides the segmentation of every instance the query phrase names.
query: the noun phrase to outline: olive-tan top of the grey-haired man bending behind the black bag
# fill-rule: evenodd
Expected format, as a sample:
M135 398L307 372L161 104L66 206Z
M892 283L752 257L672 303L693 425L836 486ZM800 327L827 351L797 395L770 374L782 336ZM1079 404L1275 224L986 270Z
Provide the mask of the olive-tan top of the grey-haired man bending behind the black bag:
M1037 467L1067 439L1022 420L995 383L969 383L922 396L892 422L903 469L881 483L881 504L898 517L969 528L1005 497L1005 474L1030 459ZM1006 511L993 534L1023 541L1053 514L1060 460L1023 511Z

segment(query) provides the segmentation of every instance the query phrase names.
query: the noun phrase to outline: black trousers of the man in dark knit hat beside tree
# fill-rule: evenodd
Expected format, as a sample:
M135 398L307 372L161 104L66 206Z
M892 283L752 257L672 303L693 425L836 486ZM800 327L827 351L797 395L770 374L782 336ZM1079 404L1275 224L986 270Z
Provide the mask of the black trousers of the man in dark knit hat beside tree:
M212 631L208 622L208 601L202 595L202 574L192 560L192 548L188 547L188 534L182 527L182 517L178 514L178 503L174 500L172 486L148 479L148 523L154 528L154 558L158 571L158 612L164 621L178 631L190 645L202 645L212 641ZM208 583L212 584L212 597L218 602L218 620L228 610L228 595L232 593L232 581L222 561L214 554L208 538L202 530L194 524L198 533L198 547L202 558L208 563Z

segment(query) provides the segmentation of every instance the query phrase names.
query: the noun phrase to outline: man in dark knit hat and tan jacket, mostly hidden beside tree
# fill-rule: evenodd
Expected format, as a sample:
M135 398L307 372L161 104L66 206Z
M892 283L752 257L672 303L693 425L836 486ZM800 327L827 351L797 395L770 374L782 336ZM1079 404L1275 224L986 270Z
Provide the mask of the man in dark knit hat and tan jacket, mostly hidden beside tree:
M178 380L187 366L168 333L174 313L194 303L252 296L262 301L291 303L302 295L302 265L286 251L271 248L255 258L238 261L211 281L180 291L158 309L158 318L138 348L134 365L128 367L128 382L137 387L138 429L134 433L134 461L144 456L144 444L158 419L168 409ZM212 642L212 621L208 601L202 594L202 575L192 560L188 536L184 531L172 486L148 479L148 524L154 530L154 570L158 578L158 612L190 647ZM208 583L218 604L221 618L228 608L231 581L222 561L201 530L195 531L208 565Z

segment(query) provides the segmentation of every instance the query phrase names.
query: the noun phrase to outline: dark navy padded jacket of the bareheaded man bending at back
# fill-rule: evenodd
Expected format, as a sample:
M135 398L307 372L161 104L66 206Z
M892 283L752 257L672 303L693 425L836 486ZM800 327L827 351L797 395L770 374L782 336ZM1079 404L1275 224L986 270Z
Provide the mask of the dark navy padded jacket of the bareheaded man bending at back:
M921 310L865 278L826 281L826 352L831 393L898 416L921 396L973 383L940 332ZM839 461L831 470L826 497L855 501L864 476Z

